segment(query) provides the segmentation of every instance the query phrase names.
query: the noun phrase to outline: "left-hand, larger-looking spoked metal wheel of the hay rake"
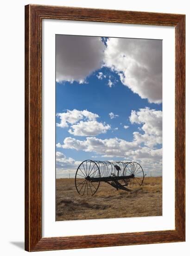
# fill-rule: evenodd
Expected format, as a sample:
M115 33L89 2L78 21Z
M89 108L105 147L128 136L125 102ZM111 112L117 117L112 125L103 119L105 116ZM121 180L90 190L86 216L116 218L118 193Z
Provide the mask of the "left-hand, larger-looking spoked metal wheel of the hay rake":
M94 195L100 186L100 182L91 182L90 178L100 178L98 165L92 160L82 162L75 175L76 190L80 195Z

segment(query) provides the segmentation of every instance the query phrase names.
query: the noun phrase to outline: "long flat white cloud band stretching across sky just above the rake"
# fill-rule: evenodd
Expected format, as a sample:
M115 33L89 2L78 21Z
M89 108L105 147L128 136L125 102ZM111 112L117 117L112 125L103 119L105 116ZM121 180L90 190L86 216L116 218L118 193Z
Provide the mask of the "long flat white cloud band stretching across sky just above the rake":
M85 152L95 152L101 155L101 157L122 157L126 161L146 163L147 170L153 164L157 163L159 165L162 162L162 148L141 147L137 141L129 142L118 138L102 140L95 137L87 137L86 140L81 141L67 137L64 139L63 145L60 143L57 144L57 148L71 148ZM160 170L161 168L159 167Z

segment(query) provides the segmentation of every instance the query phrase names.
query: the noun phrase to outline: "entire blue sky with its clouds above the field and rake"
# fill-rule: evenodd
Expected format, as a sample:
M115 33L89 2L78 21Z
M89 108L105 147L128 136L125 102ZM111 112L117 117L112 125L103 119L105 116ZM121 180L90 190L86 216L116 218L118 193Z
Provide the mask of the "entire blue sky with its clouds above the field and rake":
M72 176L94 159L138 161L147 175L161 175L162 42L56 40L57 172Z

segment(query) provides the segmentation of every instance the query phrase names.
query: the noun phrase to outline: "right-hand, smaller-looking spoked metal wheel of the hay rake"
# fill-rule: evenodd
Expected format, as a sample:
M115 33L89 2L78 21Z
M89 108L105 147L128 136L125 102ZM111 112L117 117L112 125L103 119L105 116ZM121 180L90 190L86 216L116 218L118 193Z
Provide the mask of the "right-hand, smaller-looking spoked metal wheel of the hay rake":
M137 162L129 162L123 171L123 176L133 175L133 178L124 179L129 189L138 189L145 178L143 168Z

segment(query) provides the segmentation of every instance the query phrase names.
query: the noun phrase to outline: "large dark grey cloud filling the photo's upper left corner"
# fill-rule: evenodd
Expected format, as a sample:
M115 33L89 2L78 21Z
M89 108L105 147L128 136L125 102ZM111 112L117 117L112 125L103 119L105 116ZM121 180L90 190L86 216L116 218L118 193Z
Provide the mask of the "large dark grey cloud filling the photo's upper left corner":
M56 35L56 81L84 81L101 68L104 49L100 37Z

